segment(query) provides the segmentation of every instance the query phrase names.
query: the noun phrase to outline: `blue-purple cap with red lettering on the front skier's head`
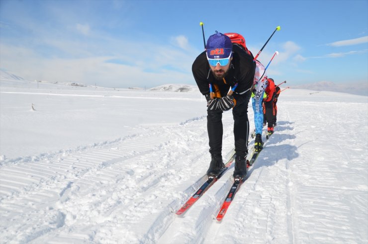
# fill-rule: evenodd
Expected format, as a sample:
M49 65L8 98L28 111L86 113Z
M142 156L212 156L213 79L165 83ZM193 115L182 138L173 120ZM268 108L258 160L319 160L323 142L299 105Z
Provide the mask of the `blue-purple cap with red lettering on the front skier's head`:
M207 57L210 59L228 58L233 50L230 37L219 33L211 35L206 44Z

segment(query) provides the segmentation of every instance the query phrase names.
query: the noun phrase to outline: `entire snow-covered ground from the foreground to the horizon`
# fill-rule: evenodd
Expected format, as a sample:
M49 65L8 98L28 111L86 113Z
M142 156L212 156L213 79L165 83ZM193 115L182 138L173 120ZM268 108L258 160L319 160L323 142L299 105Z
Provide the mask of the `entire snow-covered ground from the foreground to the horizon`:
M275 134L218 223L233 166L175 214L210 161L196 87L1 75L0 243L368 243L368 97L287 89L277 107ZM223 125L226 160L231 112Z

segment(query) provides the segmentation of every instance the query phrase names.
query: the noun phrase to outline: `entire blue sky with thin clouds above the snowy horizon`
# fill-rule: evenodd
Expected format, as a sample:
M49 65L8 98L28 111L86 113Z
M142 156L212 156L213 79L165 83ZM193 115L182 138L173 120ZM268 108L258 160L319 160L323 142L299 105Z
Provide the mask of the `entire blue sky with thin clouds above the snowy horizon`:
M1 0L0 68L27 80L104 87L195 85L215 30L238 32L289 85L368 82L367 0Z

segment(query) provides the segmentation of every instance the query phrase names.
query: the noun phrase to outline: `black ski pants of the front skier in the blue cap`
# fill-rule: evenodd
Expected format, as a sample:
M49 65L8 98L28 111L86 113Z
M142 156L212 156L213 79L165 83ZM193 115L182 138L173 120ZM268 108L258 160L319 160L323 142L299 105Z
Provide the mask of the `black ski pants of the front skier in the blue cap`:
M248 136L249 136L249 120L248 120L248 103L251 98L251 92L246 93L245 101L233 108L234 119L234 139L235 152L239 156L248 155ZM209 138L209 152L211 154L221 154L222 152L222 113L221 110L207 110L207 131Z

